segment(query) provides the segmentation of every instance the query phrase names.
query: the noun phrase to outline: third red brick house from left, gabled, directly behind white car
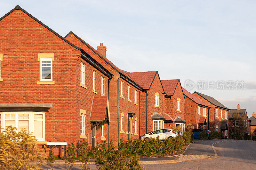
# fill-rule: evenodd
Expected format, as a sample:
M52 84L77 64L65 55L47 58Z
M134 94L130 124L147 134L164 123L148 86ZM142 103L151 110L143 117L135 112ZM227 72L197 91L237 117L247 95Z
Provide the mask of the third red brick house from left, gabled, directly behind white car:
M141 87L140 93L140 133L164 128L164 89L158 71L126 72Z

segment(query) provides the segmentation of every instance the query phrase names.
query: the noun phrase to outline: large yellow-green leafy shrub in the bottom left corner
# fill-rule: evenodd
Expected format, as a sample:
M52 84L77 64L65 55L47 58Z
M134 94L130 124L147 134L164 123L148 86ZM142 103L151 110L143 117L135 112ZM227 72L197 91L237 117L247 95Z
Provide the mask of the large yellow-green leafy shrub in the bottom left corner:
M12 126L0 132L0 169L39 169L45 157L30 132Z

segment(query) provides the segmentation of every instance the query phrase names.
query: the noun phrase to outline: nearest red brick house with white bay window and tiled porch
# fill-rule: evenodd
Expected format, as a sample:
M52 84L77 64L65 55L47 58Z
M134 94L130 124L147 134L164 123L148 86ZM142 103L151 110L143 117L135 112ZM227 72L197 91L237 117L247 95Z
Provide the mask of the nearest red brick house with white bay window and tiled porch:
M2 128L25 128L40 145L108 138L113 74L82 48L16 6L0 18L0 58Z

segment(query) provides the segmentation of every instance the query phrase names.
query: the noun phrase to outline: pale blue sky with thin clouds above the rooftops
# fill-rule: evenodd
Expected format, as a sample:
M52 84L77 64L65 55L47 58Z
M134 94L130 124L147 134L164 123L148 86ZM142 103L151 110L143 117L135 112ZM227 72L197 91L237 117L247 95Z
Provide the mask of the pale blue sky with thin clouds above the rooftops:
M256 112L256 1L1 0L0 16L16 5L63 37L73 31L94 48L103 43L120 69L157 70L161 80L194 84L191 93Z

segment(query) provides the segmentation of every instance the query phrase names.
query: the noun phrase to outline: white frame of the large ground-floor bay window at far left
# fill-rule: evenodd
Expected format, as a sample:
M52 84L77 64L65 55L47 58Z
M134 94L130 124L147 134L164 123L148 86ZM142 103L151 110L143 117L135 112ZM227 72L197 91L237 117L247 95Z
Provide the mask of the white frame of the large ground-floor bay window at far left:
M19 114L28 114L28 131L34 133L34 121L42 121L43 122L43 138L36 138L38 141L44 140L45 136L45 113L44 112L2 112L2 128L5 127L5 114L15 114L15 127L19 131ZM43 119L34 119L34 114L41 114L43 115ZM14 120L14 119L8 119L8 120ZM21 119L20 119L21 120ZM22 119L22 120L27 120L27 119Z

